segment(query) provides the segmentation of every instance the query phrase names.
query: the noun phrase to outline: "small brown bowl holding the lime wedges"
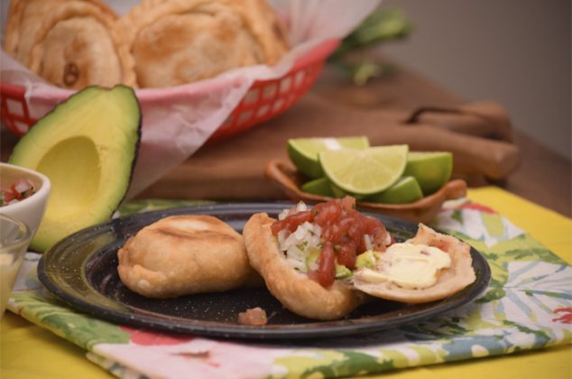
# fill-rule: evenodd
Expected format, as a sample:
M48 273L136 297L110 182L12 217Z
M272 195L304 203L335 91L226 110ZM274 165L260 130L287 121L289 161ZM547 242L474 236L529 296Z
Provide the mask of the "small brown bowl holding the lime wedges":
M327 196L314 195L300 189L304 182L304 177L294 168L290 162L282 160L271 160L264 168L266 177L274 181L286 194L294 201L304 201L308 204L328 201L333 198ZM423 199L408 204L378 204L357 201L358 208L369 210L383 215L399 217L412 222L429 223L443 206L443 203L450 199L460 199L466 196L465 180L450 180L437 192L426 196Z

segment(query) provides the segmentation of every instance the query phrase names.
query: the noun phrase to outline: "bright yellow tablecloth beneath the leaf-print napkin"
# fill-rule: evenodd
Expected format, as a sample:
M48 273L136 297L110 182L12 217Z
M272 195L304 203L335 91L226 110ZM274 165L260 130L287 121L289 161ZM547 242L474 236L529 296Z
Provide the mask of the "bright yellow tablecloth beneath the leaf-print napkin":
M470 189L469 199L494 208L516 226L572 263L572 220L503 189ZM572 284L572 283L571 283ZM112 377L85 357L85 350L12 312L0 323L0 378ZM399 378L572 378L572 348L552 347L510 356L473 359L383 374Z

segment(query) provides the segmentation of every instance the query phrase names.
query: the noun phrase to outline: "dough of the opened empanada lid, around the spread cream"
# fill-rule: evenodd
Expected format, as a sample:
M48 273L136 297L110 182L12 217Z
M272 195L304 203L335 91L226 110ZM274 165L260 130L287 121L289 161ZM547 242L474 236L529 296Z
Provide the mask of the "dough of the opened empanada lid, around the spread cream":
M419 225L417 235L409 241L414 245L435 246L449 254L451 265L438 273L438 281L429 288L411 290L392 282L371 283L359 280L359 270L354 276L354 286L377 298L406 303L422 303L445 299L475 282L475 270L471 247L454 236L437 233L429 226Z

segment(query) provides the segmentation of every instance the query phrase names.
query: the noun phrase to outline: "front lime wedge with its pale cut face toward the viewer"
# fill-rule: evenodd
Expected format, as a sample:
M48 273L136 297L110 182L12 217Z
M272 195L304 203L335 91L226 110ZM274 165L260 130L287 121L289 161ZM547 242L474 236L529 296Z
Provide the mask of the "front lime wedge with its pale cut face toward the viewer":
M369 149L326 150L318 154L326 176L340 189L371 195L388 189L401 178L409 147L406 144Z

